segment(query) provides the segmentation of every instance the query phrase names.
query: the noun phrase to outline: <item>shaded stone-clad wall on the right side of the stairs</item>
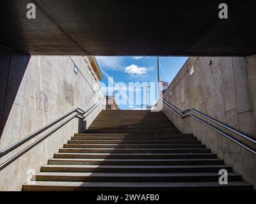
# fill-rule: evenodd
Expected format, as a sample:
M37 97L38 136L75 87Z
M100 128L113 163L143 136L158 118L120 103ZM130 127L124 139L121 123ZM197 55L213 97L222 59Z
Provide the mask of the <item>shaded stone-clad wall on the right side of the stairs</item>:
M192 75L189 72L191 66L194 66ZM163 98L181 110L195 108L256 138L256 55L189 57ZM255 155L192 118L180 119L166 106L163 106L163 112L180 131L193 133L256 187ZM253 147L241 137L230 135Z

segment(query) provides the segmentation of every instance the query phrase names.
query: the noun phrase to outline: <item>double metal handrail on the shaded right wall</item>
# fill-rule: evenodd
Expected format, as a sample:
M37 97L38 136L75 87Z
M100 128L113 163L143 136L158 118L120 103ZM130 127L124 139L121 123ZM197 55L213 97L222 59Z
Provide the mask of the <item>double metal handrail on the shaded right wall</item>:
M237 144L241 145L242 147L244 147L245 149L249 150L250 152L253 152L254 154L256 154L256 150L255 149L252 149L251 147L248 147L248 145L245 145L244 143L238 141L237 139L233 138L232 136L230 135L227 135L227 133L224 133L223 131L221 131L220 129L218 128L215 128L214 126L212 126L211 124L205 122L204 120L196 117L195 115L191 114L191 113L186 113L184 114L184 112L187 112L188 110L191 111L191 112L195 112L197 113L198 115L204 117L205 119L208 119L208 120L211 120L211 122L214 122L218 125L220 125L221 127L225 128L225 129L228 129L230 131L232 131L233 133L236 133L237 135L245 138L246 140L249 140L250 142L253 142L253 143L256 143L256 140L254 140L253 138L250 138L250 136L247 136L247 135L244 135L243 133L237 131L236 129L234 128L231 128L231 127L228 127L227 125L219 122L218 120L215 120L215 119L212 119L211 117L205 115L204 113L201 113L201 112L198 112L198 110L195 110L193 108L186 108L185 110L179 110L178 108L176 108L175 106L173 106L170 102L166 101L165 99L163 98L159 98L163 104L168 107L170 110L172 110L172 112L174 112L176 115L178 115L180 118L184 119L185 117L193 117L193 119L196 119L198 120L199 122L201 122L202 124L205 124L205 126L208 126L209 128L211 129L214 129L215 131L217 131L218 133L220 133L221 135L227 137L228 139L232 140L233 142L236 142Z

